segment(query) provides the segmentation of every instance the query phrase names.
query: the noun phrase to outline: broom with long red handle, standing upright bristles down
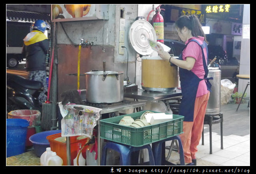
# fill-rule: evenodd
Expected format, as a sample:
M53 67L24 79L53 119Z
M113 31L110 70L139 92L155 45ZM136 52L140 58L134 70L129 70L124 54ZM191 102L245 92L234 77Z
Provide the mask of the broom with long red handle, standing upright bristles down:
M54 55L54 46L52 49L52 60L50 65L50 74L49 74L49 82L48 82L48 92L47 92L47 100L42 104L42 119L41 119L41 127L44 131L49 131L52 126L52 105L50 102L50 86L51 86L51 78L52 78L52 65L53 65L53 55Z

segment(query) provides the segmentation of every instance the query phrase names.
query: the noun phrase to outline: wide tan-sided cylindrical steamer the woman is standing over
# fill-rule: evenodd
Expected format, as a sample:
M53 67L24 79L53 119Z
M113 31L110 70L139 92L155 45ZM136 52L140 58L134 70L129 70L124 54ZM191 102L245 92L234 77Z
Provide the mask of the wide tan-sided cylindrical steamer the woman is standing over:
M178 87L178 67L160 57L142 57L142 88L168 91Z

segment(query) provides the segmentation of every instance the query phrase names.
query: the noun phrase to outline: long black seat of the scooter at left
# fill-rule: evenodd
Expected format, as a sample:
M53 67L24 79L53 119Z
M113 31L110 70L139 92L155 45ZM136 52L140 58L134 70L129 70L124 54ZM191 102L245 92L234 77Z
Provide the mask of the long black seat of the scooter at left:
M42 90L42 88L44 88L44 85L42 82L35 81L35 80L28 80L22 76L18 76L15 74L6 73L6 81L8 80L13 81L24 88L28 88L32 90Z

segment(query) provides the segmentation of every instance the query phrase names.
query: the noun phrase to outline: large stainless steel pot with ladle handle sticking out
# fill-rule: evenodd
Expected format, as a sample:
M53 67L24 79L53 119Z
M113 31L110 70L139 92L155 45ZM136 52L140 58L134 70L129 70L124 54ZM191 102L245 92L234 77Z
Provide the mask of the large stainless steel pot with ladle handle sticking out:
M124 100L124 73L91 71L85 73L86 100L90 103L117 103Z

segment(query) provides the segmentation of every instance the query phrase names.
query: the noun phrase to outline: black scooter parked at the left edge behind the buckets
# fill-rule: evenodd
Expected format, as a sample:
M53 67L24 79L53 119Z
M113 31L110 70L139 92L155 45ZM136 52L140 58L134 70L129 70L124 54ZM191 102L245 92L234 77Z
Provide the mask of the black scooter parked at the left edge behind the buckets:
M6 111L36 109L42 112L38 96L43 90L42 82L6 73Z

